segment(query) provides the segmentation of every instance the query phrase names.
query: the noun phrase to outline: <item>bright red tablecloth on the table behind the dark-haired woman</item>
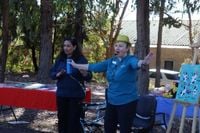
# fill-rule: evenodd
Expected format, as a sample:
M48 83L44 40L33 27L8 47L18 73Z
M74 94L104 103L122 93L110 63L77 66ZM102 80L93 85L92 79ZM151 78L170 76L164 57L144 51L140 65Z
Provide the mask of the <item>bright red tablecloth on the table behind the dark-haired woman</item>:
M90 95L87 91L86 102L90 102ZM26 89L1 84L0 105L56 111L55 89Z

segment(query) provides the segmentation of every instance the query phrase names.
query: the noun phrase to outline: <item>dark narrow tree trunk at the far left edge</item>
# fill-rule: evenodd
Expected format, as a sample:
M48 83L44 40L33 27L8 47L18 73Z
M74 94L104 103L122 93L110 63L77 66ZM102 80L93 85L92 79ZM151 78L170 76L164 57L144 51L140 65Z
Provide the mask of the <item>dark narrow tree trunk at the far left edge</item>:
M0 83L5 80L6 61L8 55L9 31L8 31L8 14L9 14L9 0L3 0L2 14L3 14L3 42L1 49L0 62Z

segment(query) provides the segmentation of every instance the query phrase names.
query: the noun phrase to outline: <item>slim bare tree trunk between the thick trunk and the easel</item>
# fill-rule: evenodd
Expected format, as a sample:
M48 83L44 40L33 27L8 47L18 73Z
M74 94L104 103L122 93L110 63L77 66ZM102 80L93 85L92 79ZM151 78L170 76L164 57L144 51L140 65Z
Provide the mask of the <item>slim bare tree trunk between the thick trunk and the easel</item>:
M158 27L158 41L156 50L156 81L155 87L160 87L160 68L161 68L161 45L162 45L162 31L163 31L163 15L165 9L165 0L161 0L159 27Z

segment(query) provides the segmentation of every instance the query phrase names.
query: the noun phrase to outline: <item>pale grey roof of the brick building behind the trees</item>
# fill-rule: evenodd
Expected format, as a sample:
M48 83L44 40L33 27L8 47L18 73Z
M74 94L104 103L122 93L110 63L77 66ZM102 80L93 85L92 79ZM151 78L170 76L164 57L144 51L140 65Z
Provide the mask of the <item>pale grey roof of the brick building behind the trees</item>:
M184 24L188 24L188 21L183 21ZM158 34L158 20L150 21L150 44L157 44L157 34ZM200 20L193 20L193 34L194 34L194 43L197 42L198 34L200 35ZM122 29L120 34L128 35L130 38L130 42L135 44L137 39L136 32L136 20L131 21L123 21ZM200 36L199 36L200 37ZM189 32L188 28L185 26L181 26L180 28L168 26L163 27L163 35L162 35L162 45L167 46L189 46Z

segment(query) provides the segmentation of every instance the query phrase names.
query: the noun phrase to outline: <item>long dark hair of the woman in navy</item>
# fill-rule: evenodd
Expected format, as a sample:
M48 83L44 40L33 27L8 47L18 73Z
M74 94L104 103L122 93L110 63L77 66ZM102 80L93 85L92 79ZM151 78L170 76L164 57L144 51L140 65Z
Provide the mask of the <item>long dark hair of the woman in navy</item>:
M76 49L73 51L72 57L71 57L71 58L72 58L74 61L77 61L78 58L79 58L80 56L82 56L83 54L82 54L82 51L81 51L81 49L80 49L80 47L79 47L79 45L78 45L78 42L77 42L76 38L74 38L74 37L72 37L72 38L67 37L67 38L64 39L63 44L64 44L65 41L69 41L69 42L72 43L73 46L76 46ZM62 48L62 50L61 50L61 52L60 52L58 58L61 58L61 59L66 59L66 58L67 58L67 55L65 54L63 48Z

